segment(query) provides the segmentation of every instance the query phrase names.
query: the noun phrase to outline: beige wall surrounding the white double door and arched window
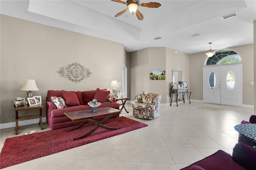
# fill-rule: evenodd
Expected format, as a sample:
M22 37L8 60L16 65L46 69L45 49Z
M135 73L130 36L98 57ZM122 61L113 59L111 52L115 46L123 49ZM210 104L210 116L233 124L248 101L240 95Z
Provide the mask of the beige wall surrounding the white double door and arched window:
M243 105L254 105L254 66L253 66L253 44L229 47L238 53L242 64L242 85ZM206 55L202 53L190 54L190 87L192 88L191 99L203 100L203 67L206 61Z

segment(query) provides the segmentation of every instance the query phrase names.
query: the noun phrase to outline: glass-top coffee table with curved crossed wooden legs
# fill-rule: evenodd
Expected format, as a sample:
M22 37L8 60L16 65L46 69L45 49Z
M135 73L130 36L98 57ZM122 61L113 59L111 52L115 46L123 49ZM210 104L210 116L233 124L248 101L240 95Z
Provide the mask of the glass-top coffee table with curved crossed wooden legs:
M94 128L92 128L92 130L90 130L86 134L84 134L84 135L82 135L78 138L73 139L73 140L78 140L78 139L85 138L86 136L88 136L89 134L94 132L99 127L106 128L106 129L109 129L109 130L120 129L120 127L114 128L114 127L108 127L108 126L103 125L108 119L110 119L114 115L117 115L117 114L120 114L120 113L121 113L120 110L114 109L114 108L111 108L111 107L97 108L97 112L94 112L94 113L92 113L91 109L64 113L72 121L82 121L83 122L80 125L78 125L77 127L74 127L70 130L66 130L66 132L76 130L76 129L82 127L83 125L85 125L86 123L92 123L92 124L96 125ZM92 119L94 117L98 117L98 116L102 116L102 115L108 115L108 116L105 117L102 121L95 121L95 120Z

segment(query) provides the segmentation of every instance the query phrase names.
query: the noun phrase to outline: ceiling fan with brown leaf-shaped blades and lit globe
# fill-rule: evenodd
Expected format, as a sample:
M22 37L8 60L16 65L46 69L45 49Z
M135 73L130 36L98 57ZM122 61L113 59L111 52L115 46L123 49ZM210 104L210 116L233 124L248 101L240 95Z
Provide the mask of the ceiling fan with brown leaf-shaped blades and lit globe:
M130 11L132 14L134 14L134 12L136 13L136 16L139 20L143 20L143 15L142 13L140 13L140 11L138 10L139 6L145 6L148 8L158 8L161 6L160 3L158 2L148 2L148 3L142 3L140 4L139 0L128 0L126 2L123 2L121 0L112 0L114 2L119 2L122 4L126 4L127 8L125 10L122 10L121 12L119 12L118 14L115 15L115 17L121 16L122 14L124 14L124 12L126 11Z

